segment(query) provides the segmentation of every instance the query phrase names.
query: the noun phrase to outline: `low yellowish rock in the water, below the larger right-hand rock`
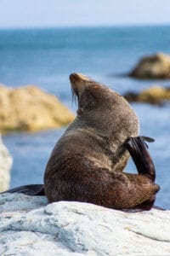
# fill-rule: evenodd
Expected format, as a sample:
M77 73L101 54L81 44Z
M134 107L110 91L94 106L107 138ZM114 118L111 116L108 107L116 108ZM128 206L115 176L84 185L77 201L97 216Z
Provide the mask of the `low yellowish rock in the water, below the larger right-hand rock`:
M124 97L128 102L146 102L162 105L164 102L170 101L170 88L152 86L149 89L141 91L139 94L129 91Z

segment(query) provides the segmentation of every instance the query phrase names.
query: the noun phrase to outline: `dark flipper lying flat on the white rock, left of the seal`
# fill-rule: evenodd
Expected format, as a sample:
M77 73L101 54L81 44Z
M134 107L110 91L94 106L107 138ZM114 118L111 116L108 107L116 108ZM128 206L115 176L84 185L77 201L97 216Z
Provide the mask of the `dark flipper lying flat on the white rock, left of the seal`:
M25 195L45 195L42 184L32 184L32 185L21 186L14 189L8 189L0 194L15 193L15 192L22 193Z

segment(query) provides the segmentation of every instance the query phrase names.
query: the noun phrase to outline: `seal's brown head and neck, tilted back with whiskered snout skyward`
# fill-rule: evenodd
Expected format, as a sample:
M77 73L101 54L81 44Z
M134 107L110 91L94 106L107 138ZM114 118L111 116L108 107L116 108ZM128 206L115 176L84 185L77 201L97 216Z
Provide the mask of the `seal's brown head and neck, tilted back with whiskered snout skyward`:
M70 80L79 120L117 140L138 135L139 119L123 96L80 73L72 73Z

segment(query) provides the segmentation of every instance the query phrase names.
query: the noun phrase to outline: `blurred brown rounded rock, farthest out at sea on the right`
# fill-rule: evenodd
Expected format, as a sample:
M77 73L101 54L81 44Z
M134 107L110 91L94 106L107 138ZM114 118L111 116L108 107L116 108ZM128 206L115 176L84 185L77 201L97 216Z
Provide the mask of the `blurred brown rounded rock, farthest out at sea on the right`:
M137 79L170 79L170 55L158 53L144 56L129 76Z

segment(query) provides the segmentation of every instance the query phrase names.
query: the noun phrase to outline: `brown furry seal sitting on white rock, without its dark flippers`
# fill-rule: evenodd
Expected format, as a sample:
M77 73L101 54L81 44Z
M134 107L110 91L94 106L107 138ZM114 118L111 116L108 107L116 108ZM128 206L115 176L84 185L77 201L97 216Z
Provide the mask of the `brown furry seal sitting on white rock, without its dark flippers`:
M84 201L116 209L151 207L159 187L153 183L153 166L123 173L139 133L139 119L127 101L105 85L82 74L70 76L78 99L77 118L59 139L48 160L44 190L49 201ZM136 145L136 144L135 144ZM134 159L141 160L138 141ZM138 152L137 152L138 151ZM145 149L143 150L144 154ZM146 156L147 158L147 156ZM150 162L150 160L149 160ZM152 163L152 162L151 162ZM147 207L145 207L147 209ZM149 208L150 208L149 207Z

